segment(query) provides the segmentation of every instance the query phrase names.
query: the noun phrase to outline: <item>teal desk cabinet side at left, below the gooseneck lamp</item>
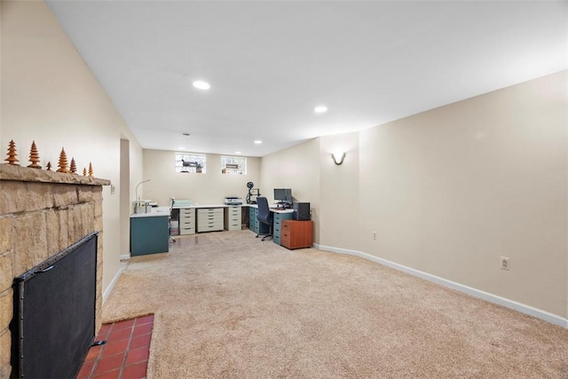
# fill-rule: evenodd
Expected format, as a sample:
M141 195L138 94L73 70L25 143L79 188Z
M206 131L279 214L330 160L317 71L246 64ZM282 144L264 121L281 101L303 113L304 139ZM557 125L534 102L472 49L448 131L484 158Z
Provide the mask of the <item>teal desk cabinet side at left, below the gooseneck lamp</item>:
M168 216L130 217L130 256L170 250Z

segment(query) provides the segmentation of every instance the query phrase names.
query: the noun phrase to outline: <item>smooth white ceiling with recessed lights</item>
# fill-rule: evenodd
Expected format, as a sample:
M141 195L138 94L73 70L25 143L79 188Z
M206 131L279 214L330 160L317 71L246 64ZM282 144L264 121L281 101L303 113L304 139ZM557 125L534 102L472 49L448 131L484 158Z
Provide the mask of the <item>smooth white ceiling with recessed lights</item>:
M565 1L47 4L150 149L263 156L568 68Z

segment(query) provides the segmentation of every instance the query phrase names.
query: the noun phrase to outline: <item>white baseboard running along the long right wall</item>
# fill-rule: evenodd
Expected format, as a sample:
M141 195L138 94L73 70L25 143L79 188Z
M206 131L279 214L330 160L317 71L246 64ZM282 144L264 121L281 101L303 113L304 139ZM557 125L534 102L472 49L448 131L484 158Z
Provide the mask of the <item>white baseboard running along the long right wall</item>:
M481 298L481 299L488 301L490 303L499 304L499 305L505 306L509 309L513 309L517 312L525 313L525 314L528 314L530 316L536 317L537 319L548 321L552 324L558 325L558 326L563 327L563 328L568 328L568 319L564 319L563 317L560 317L556 314L546 312L546 311L542 311L542 310L534 308L530 305L517 303L514 300L509 300L505 297L496 296L496 295L490 294L488 292L485 292L485 291L482 291L482 290L479 290L479 289L476 289L476 288L464 286L460 283L456 283L455 281L446 280L446 279L440 278L436 275L432 275L428 272L422 272L422 271L419 271L419 270L414 270L413 268L406 267L405 265L398 265L398 264L396 264L394 262L390 262L386 259L375 257L375 256L372 256L372 255L367 254L367 253L363 253L362 251L350 250L350 249L340 249L340 248L334 248L334 247L331 247L331 246L322 246L322 245L315 244L315 243L313 244L313 247L316 248L316 249L319 249L319 250L326 250L326 251L331 251L333 253L347 254L347 255L350 255L350 256L356 256L356 257L368 259L368 260L373 261L377 264L385 265L385 266L388 266L390 268L394 268L395 270L398 270L398 271L401 271L401 272L406 272L406 273L409 273L411 275L417 276L417 277L422 278L424 280L429 280L429 281L432 281L434 283L438 283L438 284L445 286L447 288L452 288L452 289L455 289L457 291L468 294L470 296L475 296L475 297Z

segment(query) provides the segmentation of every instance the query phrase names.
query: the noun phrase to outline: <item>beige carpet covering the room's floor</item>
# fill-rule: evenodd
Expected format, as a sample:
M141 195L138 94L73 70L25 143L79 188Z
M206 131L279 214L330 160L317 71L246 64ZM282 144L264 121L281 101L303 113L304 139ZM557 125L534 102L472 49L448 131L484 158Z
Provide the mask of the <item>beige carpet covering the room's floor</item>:
M131 258L103 320L148 313L148 378L568 379L564 328L248 231Z

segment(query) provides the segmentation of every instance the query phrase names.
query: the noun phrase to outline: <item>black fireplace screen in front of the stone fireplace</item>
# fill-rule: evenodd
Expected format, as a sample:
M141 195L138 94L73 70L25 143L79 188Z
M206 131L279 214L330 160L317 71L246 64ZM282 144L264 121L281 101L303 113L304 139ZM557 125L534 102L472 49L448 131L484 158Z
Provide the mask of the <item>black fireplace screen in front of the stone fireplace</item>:
M78 374L95 334L98 235L15 279L12 377Z

